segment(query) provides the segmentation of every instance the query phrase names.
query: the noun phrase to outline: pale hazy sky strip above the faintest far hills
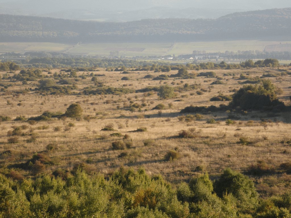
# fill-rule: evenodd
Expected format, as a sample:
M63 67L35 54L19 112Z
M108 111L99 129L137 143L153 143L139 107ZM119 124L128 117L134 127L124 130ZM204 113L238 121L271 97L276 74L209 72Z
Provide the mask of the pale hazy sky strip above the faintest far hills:
M169 6L169 7L210 7L216 10L223 8L253 8L268 9L268 8L286 8L291 7L290 0L0 0L0 3L10 3L9 6L32 6L35 9L42 8L42 10L60 10L72 7L81 8L104 8L104 9L140 9L143 7L153 6ZM13 3L13 4L11 4ZM1 4L5 7L5 4ZM33 9L33 8L31 8Z

